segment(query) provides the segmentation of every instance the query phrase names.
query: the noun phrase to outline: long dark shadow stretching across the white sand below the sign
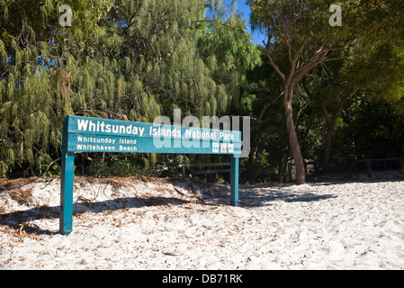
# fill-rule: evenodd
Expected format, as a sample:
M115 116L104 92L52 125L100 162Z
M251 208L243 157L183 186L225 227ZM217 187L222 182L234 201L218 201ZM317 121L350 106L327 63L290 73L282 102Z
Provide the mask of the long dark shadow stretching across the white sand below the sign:
M204 205L228 205L229 187L221 191L220 195L211 194L207 198L202 197L197 202ZM265 189L265 192L262 190ZM312 192L312 191L311 191ZM241 208L255 208L271 206L275 201L283 202L318 202L330 198L335 198L334 194L321 193L296 193L287 186L279 189L279 186L268 184L241 185L239 190L239 206ZM76 202L74 203L74 215L91 211L92 213L103 213L105 211L118 211L121 209L141 208L159 205L181 205L183 203L195 202L195 199L184 200L175 197L126 197L102 202ZM0 225L8 226L12 229L23 229L27 234L53 235L58 231L40 229L33 224L33 220L58 219L60 206L39 206L25 211L13 211L0 214Z

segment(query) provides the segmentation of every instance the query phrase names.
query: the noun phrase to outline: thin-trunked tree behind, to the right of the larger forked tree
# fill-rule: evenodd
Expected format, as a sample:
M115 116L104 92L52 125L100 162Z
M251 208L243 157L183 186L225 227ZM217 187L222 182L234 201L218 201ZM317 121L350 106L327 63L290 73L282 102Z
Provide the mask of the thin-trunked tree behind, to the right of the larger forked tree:
M332 136L341 113L350 105L365 99L383 99L397 103L403 96L404 54L402 44L391 41L373 43L372 49L352 58L328 63L320 76L310 76L302 85L310 94L310 101L318 106L327 124L324 140L324 172L329 169ZM394 65L391 65L394 63ZM327 70L327 73L324 71ZM310 86L310 88L308 88ZM313 93L310 93L313 91ZM396 112L403 113L400 105Z

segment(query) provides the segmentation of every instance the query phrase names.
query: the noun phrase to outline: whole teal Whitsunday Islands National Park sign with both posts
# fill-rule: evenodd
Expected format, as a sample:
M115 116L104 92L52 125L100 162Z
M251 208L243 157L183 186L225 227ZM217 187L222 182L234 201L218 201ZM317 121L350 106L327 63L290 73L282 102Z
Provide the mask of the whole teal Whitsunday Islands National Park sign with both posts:
M67 116L63 122L59 226L64 235L73 229L75 152L230 155L230 204L238 206L241 132Z

